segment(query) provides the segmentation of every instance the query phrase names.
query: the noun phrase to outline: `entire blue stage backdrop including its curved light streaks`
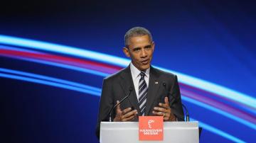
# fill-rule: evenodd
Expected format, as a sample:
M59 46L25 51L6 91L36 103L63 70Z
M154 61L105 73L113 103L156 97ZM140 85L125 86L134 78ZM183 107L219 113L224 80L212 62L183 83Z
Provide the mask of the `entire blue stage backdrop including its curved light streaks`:
M102 79L148 28L152 64L178 75L201 142L256 142L254 1L7 1L0 17L0 142L97 142Z

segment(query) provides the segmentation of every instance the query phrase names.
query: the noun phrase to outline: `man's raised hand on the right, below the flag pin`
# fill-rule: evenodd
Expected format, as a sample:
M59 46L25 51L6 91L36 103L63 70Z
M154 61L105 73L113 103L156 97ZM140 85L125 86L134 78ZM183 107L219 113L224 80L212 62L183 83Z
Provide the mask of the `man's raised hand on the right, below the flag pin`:
M175 121L176 117L171 113L168 97L164 98L164 103L159 103L159 107L154 107L154 115L164 116L164 121Z

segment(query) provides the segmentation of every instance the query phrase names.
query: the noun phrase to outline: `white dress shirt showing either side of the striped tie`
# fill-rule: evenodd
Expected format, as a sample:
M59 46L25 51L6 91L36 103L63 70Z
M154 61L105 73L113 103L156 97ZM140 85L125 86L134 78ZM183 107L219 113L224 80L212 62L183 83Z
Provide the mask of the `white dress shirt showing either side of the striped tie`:
M139 69L137 69L137 67L134 67L134 65L130 64L130 69L131 69L131 73L132 73L132 81L134 83L134 88L135 88L135 92L137 95L137 99L139 101L139 79L141 78L141 76L139 75L142 71L140 71ZM150 67L149 69L146 69L146 76L144 76L144 79L146 81L146 86L149 88L149 71L150 71Z

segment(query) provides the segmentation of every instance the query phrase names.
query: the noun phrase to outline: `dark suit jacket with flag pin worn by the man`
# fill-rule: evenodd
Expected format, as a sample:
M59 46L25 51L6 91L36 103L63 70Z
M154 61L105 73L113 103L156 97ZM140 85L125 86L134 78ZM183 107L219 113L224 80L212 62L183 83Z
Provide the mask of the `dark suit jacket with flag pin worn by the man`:
M107 114L117 101L121 101L122 98L129 94L129 88L131 87L131 95L127 100L121 103L121 109L124 110L125 108L134 107L138 110L138 115L141 115L129 66L104 79L96 128L98 138L100 137L100 122L109 120ZM181 105L181 93L176 75L150 67L148 90L145 115L153 115L153 108L158 106L159 102L164 103L164 97L169 96L172 113L176 115L178 120L184 119ZM115 115L116 110L113 110L112 119L114 119ZM134 121L138 120L139 118L134 118Z

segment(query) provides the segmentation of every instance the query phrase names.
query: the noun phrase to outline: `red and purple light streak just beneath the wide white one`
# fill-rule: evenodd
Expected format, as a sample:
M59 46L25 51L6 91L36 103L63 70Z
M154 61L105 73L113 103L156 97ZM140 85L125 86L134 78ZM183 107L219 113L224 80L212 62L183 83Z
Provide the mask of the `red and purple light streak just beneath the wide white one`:
M98 63L90 63L90 62L86 62L86 60L78 60L78 59L73 59L71 57L62 57L62 56L55 56L55 55L50 55L50 54L47 54L47 53L44 53L44 52L34 52L33 50L22 50L22 49L18 49L16 47L6 47L6 46L2 46L0 45L0 55L4 55L6 57L13 57L13 58L18 58L18 57L25 57L25 58L28 58L29 59L40 59L43 61L50 61L50 62L57 62L57 63L61 63L61 64L71 64L71 66L75 66L75 67L82 67L82 69L87 69L87 67L92 67L90 69L92 69L93 71L107 71L106 74L111 74L113 73L114 71L117 71L119 70L120 68L118 67L109 67L108 65L104 65L104 64L98 64ZM20 58L18 58L20 59ZM31 60L29 60L30 62L33 62ZM78 64L73 64L73 62L78 62ZM41 63L43 64L43 63ZM87 65L88 64L88 65ZM96 68L94 68L96 67ZM97 68L98 67L98 68ZM100 68L100 69L99 69ZM73 69L73 68L72 68ZM109 70L111 69L111 72L109 72ZM90 73L92 74L92 73ZM182 84L180 83L181 85L184 85L184 86L188 86L186 84ZM193 88L192 86L188 86L190 88ZM184 88L181 88L181 93L184 94ZM201 89L197 89L197 90L201 90ZM203 90L202 90L203 91ZM204 91L206 92L206 91ZM199 95L195 96L194 93L188 93L186 94L188 97L190 98L193 98L193 99L196 99L197 101L201 101L201 99L205 98L205 97L199 97ZM194 95L194 96L192 96ZM218 95L215 95L215 96L218 96ZM202 101L201 101L202 102ZM211 101L211 102L214 102L214 101ZM217 107L215 106L216 104L215 103L211 103L210 101L206 100L206 102L203 102L203 103L208 103L209 105L212 105L214 106L215 108L219 108L220 106L222 105L218 105ZM218 101L217 101L218 102ZM241 106L243 107L243 106ZM250 108L246 108L246 107L243 107L245 108L245 110L249 110ZM251 118L250 116L248 116L246 113L243 113L242 111L240 112L239 110L238 111L235 111L231 108L220 108L220 110L225 110L226 112L228 113L232 113L233 115L236 115L238 116L239 118L242 118L242 119L245 119L245 120L248 120L250 122L254 122L255 123L255 118ZM256 111L252 112L252 113L255 113Z

